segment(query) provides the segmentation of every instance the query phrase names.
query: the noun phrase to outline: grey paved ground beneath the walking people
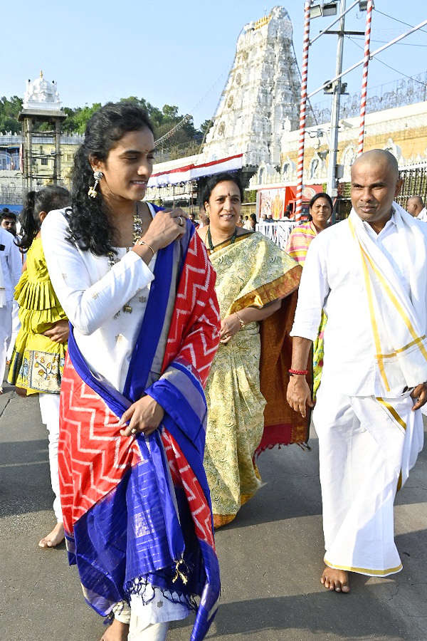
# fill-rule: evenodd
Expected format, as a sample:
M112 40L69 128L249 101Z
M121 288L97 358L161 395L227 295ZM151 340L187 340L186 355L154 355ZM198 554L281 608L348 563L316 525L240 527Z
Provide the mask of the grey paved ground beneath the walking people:
M38 400L0 397L1 641L99 641L65 547L43 550L53 526L48 441ZM427 452L396 501L404 570L357 575L348 595L320 584L322 523L317 438L259 459L265 485L218 531L222 597L212 641L427 641ZM333 474L333 470L331 471ZM168 641L189 641L191 620Z

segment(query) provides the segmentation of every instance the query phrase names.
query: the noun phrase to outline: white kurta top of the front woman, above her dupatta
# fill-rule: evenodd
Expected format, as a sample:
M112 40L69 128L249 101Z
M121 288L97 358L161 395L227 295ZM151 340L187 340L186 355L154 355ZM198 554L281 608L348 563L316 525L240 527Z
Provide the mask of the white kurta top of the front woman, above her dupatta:
M67 235L63 213L50 212L43 221L41 237L53 288L90 369L122 392L156 257L147 266L135 251L119 247L120 260L110 267L107 256L76 249L65 241ZM123 311L127 303L132 313Z

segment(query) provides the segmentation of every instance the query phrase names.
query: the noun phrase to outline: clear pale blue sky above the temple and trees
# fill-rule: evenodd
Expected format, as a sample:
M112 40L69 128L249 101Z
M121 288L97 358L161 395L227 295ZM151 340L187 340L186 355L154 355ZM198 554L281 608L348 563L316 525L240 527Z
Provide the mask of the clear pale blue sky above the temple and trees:
M347 7L351 4L347 0ZM23 0L4 5L3 35L9 31L10 37L9 48L2 47L0 95L23 96L26 79L43 69L47 80L56 80L63 106L137 95L159 108L177 105L179 113L194 116L196 126L215 113L241 28L274 6L266 0ZM301 68L304 1L288 0L283 6L292 20ZM415 26L427 18L425 0L375 0L375 9L371 51L407 30L399 21ZM365 16L352 9L346 28L364 31ZM312 21L310 35L330 21ZM402 42L371 61L369 87L426 71L427 26ZM363 47L363 38L345 39L344 69L363 57ZM310 48L309 91L334 75L336 50L336 36L322 36ZM350 93L359 91L362 67L343 81ZM314 102L324 99L320 93Z

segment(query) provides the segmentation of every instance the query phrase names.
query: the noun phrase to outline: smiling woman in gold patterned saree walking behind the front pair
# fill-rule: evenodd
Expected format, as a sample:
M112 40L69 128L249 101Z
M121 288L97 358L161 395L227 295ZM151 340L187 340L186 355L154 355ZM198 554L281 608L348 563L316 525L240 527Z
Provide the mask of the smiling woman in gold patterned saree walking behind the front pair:
M235 174L211 177L204 193L209 226L198 230L216 270L221 313L221 343L206 385L204 457L217 528L260 486L255 451L307 437L307 421L286 408L283 395L296 299L290 294L302 268L262 234L237 226L242 200Z

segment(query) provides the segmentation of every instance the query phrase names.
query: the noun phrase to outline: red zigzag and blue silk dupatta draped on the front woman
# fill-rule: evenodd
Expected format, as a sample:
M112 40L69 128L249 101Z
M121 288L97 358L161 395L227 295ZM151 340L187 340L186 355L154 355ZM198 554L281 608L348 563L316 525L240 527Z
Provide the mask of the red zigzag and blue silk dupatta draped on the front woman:
M70 333L58 457L65 533L69 561L98 613L132 594L147 602L154 586L196 610L191 640L201 641L220 591L202 387L218 344L218 308L214 273L191 224L159 251L154 276L123 394L90 371ZM120 437L117 419L144 393L163 407L161 427Z

